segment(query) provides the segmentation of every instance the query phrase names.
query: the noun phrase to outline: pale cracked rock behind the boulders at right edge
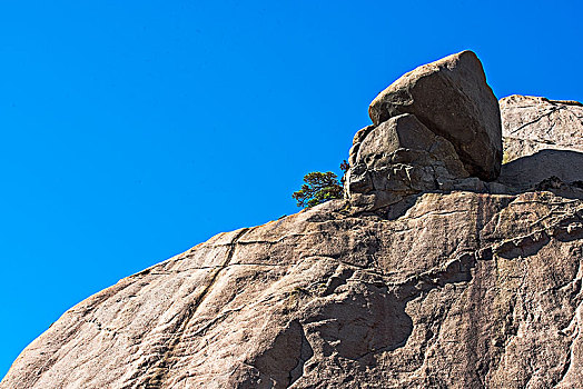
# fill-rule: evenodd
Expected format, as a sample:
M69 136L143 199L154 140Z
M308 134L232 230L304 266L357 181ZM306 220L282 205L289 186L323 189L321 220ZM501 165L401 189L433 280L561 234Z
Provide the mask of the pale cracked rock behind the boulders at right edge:
M500 106L505 160L500 182L524 190L551 177L565 184L583 181L583 104L514 94Z

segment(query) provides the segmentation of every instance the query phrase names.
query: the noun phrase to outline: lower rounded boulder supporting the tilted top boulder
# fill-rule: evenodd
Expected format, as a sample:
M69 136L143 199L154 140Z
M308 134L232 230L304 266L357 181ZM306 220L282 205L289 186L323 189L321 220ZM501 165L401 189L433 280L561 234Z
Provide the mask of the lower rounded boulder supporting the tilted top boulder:
M358 131L348 160L346 194L368 211L422 191L451 190L468 177L452 143L408 113Z

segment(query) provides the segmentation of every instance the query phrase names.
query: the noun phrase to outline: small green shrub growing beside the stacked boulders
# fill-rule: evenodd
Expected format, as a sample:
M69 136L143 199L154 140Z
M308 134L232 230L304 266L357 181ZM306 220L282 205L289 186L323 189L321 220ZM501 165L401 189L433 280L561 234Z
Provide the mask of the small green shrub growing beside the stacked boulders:
M343 198L343 188L338 177L332 171L313 171L304 176L302 189L294 192L298 207L314 207L333 199Z

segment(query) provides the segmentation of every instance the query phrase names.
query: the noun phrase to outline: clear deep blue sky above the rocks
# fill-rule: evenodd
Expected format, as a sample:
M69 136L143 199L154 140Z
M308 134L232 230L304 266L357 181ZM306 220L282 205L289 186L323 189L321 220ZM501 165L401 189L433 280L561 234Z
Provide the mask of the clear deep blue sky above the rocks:
M68 308L297 211L368 103L464 49L583 100L581 1L2 1L0 377Z

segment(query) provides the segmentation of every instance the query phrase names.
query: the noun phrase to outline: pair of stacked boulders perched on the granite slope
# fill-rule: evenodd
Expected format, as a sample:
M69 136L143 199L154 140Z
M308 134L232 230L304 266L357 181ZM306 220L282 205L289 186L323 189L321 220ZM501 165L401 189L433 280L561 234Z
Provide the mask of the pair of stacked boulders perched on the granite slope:
M498 101L482 63L463 51L396 80L370 103L373 126L358 131L346 197L384 210L424 191L481 190L502 163Z

